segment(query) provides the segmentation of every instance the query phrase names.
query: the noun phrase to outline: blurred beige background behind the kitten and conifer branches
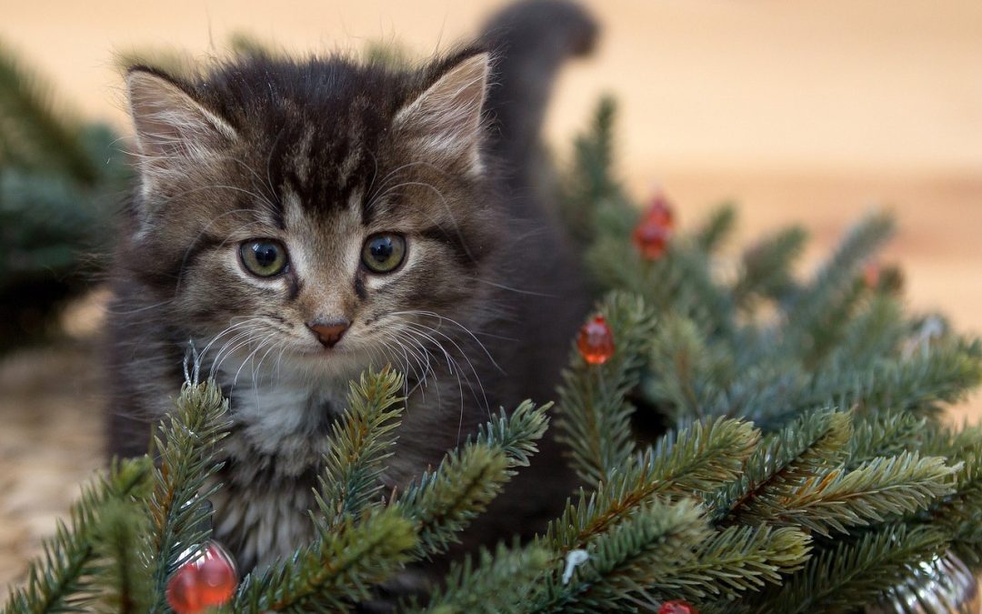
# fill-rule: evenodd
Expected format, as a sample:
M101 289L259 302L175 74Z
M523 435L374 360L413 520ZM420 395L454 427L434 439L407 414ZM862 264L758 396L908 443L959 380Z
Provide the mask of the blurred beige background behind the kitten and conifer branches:
M475 31L500 4L2 3L0 40L85 116L119 126L114 53L175 47L203 58L246 31L296 52L382 38L428 54ZM802 222L815 238L813 262L862 212L889 206L901 229L888 258L906 272L910 304L982 333L982 1L586 4L603 23L603 41L559 84L546 132L560 155L610 92L621 103L625 178L639 196L660 184L683 224L735 197L740 240ZM74 484L99 463L98 419L78 423L79 399L96 388L44 379L71 371L70 359L20 361L0 369L0 405L12 408L0 416L0 585L20 573L25 553L78 492ZM51 419L52 411L68 419ZM956 415L982 415L982 402Z

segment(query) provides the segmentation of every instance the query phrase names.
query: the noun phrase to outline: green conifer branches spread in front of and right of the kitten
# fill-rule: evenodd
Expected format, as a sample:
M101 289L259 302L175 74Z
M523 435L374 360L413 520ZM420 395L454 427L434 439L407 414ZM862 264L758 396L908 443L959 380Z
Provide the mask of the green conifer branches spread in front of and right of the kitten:
M225 607L371 600L445 552L535 462L550 421L583 484L562 515L398 609L851 612L949 550L982 569L982 430L940 420L982 378L982 345L907 313L896 284L863 280L892 220L860 221L805 281L791 274L800 229L728 259L730 207L651 257L631 242L642 212L616 180L613 118L604 101L576 141L564 212L614 354L590 363L571 344L555 408L502 412L400 492L378 476L399 445L403 382L369 369L327 435L313 541L244 570ZM186 384L156 467L121 462L85 490L5 611L168 611L167 580L210 535L226 412L211 383Z

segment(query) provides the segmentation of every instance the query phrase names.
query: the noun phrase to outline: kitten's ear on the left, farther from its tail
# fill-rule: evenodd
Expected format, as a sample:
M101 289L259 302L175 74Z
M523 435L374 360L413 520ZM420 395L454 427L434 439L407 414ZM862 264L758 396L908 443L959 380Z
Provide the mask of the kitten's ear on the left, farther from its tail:
M202 161L236 139L228 122L166 77L137 68L127 75L126 83L136 145L151 173Z

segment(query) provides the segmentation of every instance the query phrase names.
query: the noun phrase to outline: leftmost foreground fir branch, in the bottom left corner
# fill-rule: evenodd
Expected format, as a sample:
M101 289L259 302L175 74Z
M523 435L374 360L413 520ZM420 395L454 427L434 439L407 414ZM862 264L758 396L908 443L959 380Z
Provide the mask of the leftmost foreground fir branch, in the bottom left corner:
M13 590L4 606L7 614L87 611L97 596L92 585L98 571L95 531L103 510L111 502L142 496L150 480L152 463L146 457L114 461L108 475L82 487L82 496L69 511L69 522L59 521L54 537L45 540L43 556L27 568L27 586Z

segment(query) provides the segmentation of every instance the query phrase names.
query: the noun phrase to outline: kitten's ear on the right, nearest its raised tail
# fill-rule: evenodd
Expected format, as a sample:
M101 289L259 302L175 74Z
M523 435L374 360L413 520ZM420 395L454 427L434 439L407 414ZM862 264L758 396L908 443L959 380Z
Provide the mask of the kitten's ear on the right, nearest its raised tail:
M472 55L444 73L396 115L395 129L426 154L481 170L481 108L491 72L487 53Z

